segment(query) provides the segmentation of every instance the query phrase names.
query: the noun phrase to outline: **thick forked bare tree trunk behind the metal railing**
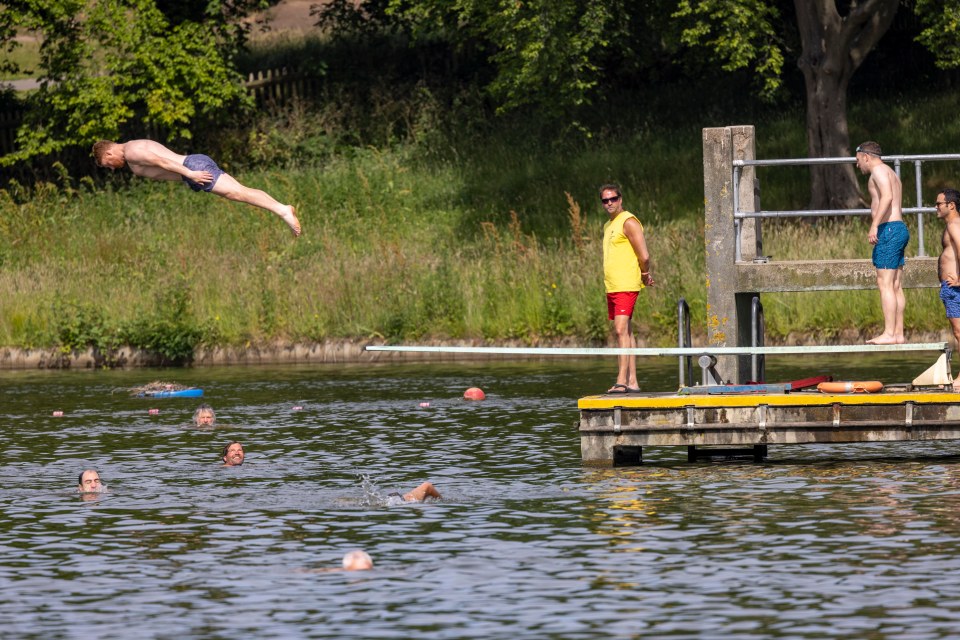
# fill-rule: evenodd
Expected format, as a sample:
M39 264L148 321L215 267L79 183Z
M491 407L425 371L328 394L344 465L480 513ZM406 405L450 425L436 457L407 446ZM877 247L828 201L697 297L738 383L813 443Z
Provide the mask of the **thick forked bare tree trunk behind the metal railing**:
M890 28L899 0L853 2L842 17L836 0L794 0L803 52L797 65L807 95L807 155L852 155L847 129L847 87L867 54ZM878 141L879 142L879 141ZM810 208L862 206L853 164L810 168Z

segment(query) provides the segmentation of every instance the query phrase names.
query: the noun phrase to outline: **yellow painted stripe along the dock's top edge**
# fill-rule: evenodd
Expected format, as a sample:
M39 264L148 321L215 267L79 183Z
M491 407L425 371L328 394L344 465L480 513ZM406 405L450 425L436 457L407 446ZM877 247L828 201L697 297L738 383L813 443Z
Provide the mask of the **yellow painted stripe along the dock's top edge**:
M866 404L960 404L960 393L904 392L904 393L787 393L749 395L662 395L662 396L587 396L580 398L580 409L675 409L682 407L756 407L768 406L824 406Z

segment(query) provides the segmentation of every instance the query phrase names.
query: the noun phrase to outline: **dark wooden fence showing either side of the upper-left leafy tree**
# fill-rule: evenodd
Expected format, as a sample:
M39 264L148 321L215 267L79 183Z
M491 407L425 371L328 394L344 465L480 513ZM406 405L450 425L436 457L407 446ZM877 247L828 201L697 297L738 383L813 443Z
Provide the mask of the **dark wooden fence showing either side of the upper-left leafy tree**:
M269 69L251 73L244 85L256 101L257 108L269 111L292 100L316 100L320 96L321 78L287 68ZM25 114L26 109L0 111L0 155L15 149L17 128Z

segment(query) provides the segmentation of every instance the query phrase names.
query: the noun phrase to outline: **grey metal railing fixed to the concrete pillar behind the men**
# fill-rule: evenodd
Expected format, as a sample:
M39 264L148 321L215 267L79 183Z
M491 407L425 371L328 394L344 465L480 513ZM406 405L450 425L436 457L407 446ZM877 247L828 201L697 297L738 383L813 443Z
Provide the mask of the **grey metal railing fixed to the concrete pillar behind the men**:
M913 207L904 207L904 214L917 214L917 235L919 236L919 246L917 255L926 256L926 249L923 243L923 214L935 213L934 207L923 206L923 170L924 162L936 162L944 160L960 160L960 154L941 153L910 156L883 156L884 162L892 162L897 177L900 177L900 167L904 162L914 163L914 176L916 183L916 205ZM760 235L760 219L762 218L806 218L811 216L851 216L851 215L869 215L870 209L808 209L800 211L741 211L740 210L740 174L744 167L786 167L786 166L807 166L820 164L845 164L855 163L853 158L793 158L784 160L734 160L733 161L733 225L736 234L736 261L742 260L740 251L740 234L742 220L747 218L757 219L757 257L763 255L763 247Z

